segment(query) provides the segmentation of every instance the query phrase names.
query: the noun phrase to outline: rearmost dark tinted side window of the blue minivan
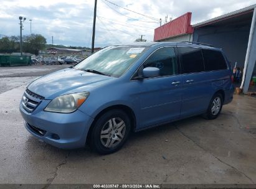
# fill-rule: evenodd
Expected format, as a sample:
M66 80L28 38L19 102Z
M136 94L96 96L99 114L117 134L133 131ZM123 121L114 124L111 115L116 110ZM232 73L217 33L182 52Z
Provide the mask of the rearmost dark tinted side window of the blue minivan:
M206 71L227 69L227 63L221 52L216 50L202 49Z

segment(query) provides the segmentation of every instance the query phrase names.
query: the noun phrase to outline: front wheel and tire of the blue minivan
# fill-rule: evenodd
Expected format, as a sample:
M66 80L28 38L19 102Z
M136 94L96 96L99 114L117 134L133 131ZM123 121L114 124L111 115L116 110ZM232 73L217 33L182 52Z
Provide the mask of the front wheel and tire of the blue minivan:
M113 109L98 118L90 133L90 147L99 154L111 154L119 150L128 139L131 121L119 109Z

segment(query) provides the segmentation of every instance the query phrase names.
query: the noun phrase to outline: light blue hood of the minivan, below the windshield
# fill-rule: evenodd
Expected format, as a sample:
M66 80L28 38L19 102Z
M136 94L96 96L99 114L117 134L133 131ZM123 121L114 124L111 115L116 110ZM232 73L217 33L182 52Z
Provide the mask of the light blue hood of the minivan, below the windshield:
M110 76L67 68L37 78L27 88L40 96L44 96L45 99L54 99L62 94L89 91L111 79L113 78Z

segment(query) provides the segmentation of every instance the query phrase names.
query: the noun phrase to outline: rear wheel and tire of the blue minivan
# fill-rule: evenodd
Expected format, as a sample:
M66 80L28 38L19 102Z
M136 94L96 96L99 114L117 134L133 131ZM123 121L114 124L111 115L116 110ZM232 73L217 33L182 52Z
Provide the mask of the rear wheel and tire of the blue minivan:
M206 119L216 119L223 106L223 96L220 93L215 93L212 96L207 112L202 116Z

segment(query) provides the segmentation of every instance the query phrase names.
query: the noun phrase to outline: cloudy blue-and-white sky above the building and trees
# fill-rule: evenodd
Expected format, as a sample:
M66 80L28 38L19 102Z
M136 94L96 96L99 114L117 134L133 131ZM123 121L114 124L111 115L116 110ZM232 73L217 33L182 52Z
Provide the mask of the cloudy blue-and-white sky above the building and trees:
M125 7L141 16L127 11ZM192 12L192 24L256 4L256 0L98 0L95 47L127 44L143 35L153 41L154 29L166 16ZM22 35L41 34L47 44L90 47L93 0L1 0L0 35L19 35L19 16L26 17ZM153 17L153 18L149 18ZM29 21L31 19L32 21ZM31 27L32 26L32 27Z

